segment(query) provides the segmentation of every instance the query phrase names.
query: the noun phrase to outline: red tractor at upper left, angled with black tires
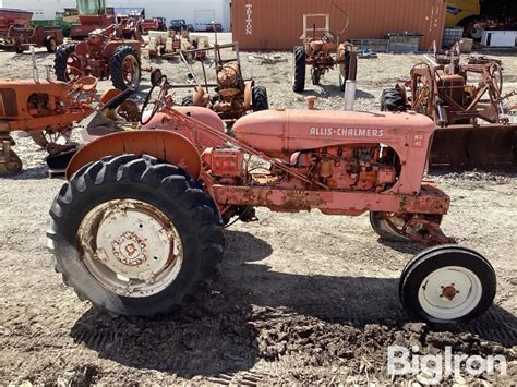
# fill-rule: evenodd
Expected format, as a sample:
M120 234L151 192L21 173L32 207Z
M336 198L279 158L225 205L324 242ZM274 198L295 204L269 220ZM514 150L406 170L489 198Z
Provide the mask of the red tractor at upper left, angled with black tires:
M141 41L124 37L121 25L94 31L86 39L59 48L55 59L59 81L74 82L83 76L109 78L115 87L137 88L141 82ZM134 29L134 34L140 34ZM133 34L133 36L134 36Z

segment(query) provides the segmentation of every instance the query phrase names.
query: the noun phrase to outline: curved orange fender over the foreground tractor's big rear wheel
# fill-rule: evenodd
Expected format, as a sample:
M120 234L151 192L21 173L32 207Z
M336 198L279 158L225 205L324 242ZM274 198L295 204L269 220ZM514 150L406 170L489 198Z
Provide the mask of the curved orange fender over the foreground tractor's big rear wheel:
M112 133L83 146L70 160L67 180L88 162L106 156L149 155L183 168L193 179L201 174L201 156L194 144L181 134L161 130Z

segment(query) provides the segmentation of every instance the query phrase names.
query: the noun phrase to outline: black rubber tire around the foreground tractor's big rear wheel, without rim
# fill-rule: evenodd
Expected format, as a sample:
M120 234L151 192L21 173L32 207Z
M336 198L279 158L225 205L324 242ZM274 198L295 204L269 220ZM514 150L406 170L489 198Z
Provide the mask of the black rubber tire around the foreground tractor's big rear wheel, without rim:
M140 185L135 185L135 182ZM80 215L72 215L73 211L86 206L86 209L83 210L86 214L98 205L97 194L103 190L113 189L113 184L117 183L127 186L133 185L140 192L152 189L153 201L159 204L161 210L170 211L170 214L173 214L172 216L181 215L182 222L175 226L179 230L182 240L183 238L190 240L195 238L196 240L196 247L192 247L190 252L185 250L183 262L183 265L190 262L188 264L190 266L185 267L185 270L191 271L192 276L180 274L180 277L169 286L169 288L177 286L180 290L176 289L172 295L170 292L165 294L169 289L167 288L153 295L153 298L157 298L156 303L148 302L152 305L145 307L142 303L139 303L140 301L131 301L137 300L137 298L128 299L106 290L99 297L98 294L103 290L88 289L92 294L97 292L93 300L92 297L88 297L88 291L84 290L84 283L80 283L82 281L82 279L79 279L81 278L80 274L70 273L70 269L75 266L71 261L79 259L75 235L82 221ZM140 199L136 196L134 198ZM171 209L172 206L173 209ZM195 299L195 290L199 285L207 286L218 271L217 266L223 259L225 243L221 221L215 208L213 199L202 191L201 184L177 166L164 164L145 155L121 155L103 158L75 172L70 182L63 184L52 203L47 239L49 250L53 253L55 269L62 275L63 282L73 288L80 299L89 300L94 306L104 309L111 315L149 317L170 313L185 301ZM190 256L187 256L188 254ZM197 259L197 263L189 261L193 257ZM183 270L183 266L181 270ZM100 285L98 287L104 289Z

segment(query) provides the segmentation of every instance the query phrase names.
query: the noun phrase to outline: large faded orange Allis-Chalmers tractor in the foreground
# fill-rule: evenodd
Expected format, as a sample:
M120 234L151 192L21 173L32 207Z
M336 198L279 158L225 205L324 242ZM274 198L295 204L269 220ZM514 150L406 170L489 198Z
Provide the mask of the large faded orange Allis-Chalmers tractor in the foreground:
M142 130L100 136L68 167L48 245L80 298L115 314L167 313L216 273L223 226L267 207L369 211L382 239L438 244L401 275L401 302L424 319L467 321L491 305L492 266L443 234L449 197L422 180L430 119L266 110L238 120L231 137L215 112L173 107L167 88L163 76L149 92Z

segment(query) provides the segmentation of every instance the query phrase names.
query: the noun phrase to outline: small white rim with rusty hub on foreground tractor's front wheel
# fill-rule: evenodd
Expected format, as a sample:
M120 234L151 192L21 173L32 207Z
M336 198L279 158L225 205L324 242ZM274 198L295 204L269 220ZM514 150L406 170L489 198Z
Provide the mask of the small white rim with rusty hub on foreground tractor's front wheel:
M429 315L454 319L467 315L479 304L482 286L479 277L460 266L431 273L420 285L418 300Z

